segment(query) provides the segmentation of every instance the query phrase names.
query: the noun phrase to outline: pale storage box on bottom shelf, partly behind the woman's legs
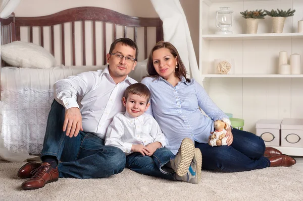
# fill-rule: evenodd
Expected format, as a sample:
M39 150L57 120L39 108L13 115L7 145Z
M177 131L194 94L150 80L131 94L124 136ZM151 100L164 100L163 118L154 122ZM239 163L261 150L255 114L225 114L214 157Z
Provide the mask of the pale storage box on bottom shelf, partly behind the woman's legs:
M260 119L256 123L257 136L260 136L267 146L280 146L281 119Z

